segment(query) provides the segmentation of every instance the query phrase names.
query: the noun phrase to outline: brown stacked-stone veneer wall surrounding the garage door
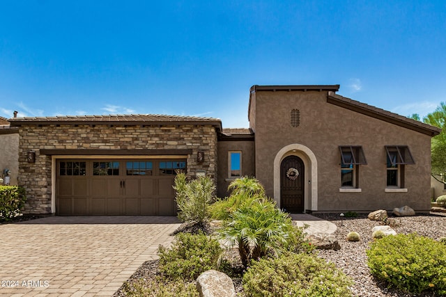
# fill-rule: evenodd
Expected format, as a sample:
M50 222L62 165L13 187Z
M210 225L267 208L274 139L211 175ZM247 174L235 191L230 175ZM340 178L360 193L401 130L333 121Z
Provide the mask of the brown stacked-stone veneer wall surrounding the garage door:
M52 212L52 157L40 154L42 149L107 149L110 154L112 150L192 149L187 156L187 175L193 177L195 170L206 170L217 182L217 133L211 125L23 125L19 134L18 183L26 188L24 213L28 214ZM29 150L36 152L36 163L26 161ZM198 151L205 153L203 163L197 163Z

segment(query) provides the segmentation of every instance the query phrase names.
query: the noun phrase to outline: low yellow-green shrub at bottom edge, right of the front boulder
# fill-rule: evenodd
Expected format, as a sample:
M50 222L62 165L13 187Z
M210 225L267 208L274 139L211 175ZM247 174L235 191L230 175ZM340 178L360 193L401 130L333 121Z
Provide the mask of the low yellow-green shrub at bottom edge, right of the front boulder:
M351 296L353 282L334 264L289 253L252 262L243 275L246 296Z

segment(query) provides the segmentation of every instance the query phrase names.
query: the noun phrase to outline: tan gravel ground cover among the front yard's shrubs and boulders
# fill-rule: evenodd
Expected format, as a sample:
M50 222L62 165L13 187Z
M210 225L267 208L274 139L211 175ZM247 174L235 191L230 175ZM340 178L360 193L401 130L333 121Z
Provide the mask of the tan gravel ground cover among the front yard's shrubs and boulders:
M337 231L334 232L341 250L319 250L318 256L328 261L334 262L337 267L341 268L344 273L349 275L355 281L352 292L353 296L391 296L391 297L433 297L438 296L436 294L421 294L413 295L397 291L395 289L388 289L386 284L375 280L369 273L367 266L366 250L369 248L369 243L372 241L371 229L377 225L383 225L383 223L369 220L367 215L360 214L356 218L344 218L340 220L339 214L316 214L319 218L329 220L337 225ZM439 239L441 236L446 236L446 214L444 213L431 213L422 214L413 217L402 218L389 218L387 225L390 225L397 233L409 234L416 232L422 236L429 236L432 239ZM361 236L360 241L350 242L346 241L346 235L348 232L355 231ZM239 262L238 253L236 250L232 250L226 255L226 259L233 261L235 266L238 266ZM132 285L132 282L136 282L139 279L150 279L157 275L157 260L145 262L139 269L132 275L128 281L128 285ZM236 291L239 296L243 296L243 286L240 278L233 278L233 282L236 286ZM123 288L116 291L114 297L125 296L123 294Z

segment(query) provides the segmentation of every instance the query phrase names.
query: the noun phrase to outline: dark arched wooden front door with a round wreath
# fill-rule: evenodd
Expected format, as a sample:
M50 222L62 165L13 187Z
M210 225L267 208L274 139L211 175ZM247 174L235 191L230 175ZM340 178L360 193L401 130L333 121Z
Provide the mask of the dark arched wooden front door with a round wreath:
M288 212L304 212L304 162L287 156L280 164L280 207Z

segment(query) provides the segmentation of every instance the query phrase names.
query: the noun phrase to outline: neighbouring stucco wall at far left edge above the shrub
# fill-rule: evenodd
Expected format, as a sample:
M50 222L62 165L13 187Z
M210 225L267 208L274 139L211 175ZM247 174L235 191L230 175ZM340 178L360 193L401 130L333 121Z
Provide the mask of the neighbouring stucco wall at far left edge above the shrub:
M19 134L0 134L0 177L4 179L3 170L11 171L10 185L17 186L19 174Z

